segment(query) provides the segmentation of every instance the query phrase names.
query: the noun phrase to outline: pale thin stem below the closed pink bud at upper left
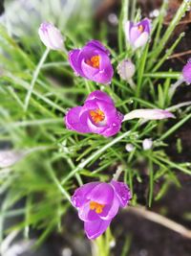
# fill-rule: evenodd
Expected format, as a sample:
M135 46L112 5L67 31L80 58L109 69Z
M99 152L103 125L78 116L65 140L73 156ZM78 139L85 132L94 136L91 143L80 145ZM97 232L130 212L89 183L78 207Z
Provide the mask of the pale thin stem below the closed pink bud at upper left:
M47 48L42 56L42 58L40 58L40 61L38 62L38 65L33 73L33 78L32 78L32 82L31 82L31 86L28 90L28 93L27 93L27 96L25 98L25 105L24 105L24 110L27 111L28 109L28 106L29 106L29 103L30 103L30 99L31 99L31 96L32 96L32 90L33 90L33 87L34 87L34 84L38 78L38 75L39 75L39 72L40 72L40 69L42 67L42 65L44 64L48 54L50 52L50 49Z

